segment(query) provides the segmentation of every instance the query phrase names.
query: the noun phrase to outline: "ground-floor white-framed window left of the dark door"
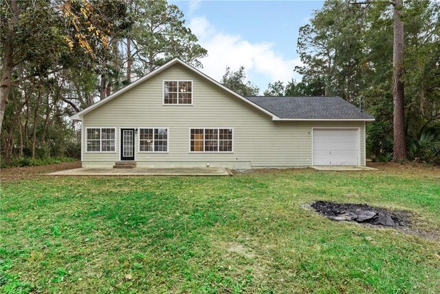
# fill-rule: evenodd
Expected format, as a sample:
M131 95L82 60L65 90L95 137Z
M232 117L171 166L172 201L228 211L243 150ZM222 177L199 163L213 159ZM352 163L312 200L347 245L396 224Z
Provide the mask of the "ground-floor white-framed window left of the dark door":
M115 129L91 127L87 129L87 151L114 152Z

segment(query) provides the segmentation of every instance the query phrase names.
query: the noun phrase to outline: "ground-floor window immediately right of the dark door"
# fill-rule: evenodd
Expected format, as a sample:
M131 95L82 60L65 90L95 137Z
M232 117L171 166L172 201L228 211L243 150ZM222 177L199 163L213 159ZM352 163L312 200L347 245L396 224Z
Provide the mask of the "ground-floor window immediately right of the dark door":
M168 152L168 129L139 129L140 152Z

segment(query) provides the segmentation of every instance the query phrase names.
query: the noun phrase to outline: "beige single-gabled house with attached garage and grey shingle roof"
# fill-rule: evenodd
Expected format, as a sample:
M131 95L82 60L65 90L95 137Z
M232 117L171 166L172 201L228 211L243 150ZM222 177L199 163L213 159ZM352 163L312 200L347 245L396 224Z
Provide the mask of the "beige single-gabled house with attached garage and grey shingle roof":
M340 97L243 97L173 59L71 117L83 167L365 165L373 116Z

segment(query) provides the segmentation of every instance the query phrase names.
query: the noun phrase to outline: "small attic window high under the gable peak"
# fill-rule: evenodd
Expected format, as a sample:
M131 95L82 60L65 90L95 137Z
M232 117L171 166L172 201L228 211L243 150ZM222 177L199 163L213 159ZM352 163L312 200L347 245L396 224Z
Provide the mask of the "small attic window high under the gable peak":
M192 81L164 81L164 104L192 105Z

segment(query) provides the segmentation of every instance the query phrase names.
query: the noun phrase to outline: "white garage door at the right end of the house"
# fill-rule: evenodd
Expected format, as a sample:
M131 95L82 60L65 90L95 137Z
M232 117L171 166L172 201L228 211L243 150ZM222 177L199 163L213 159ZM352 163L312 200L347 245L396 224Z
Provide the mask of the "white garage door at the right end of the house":
M314 165L360 165L358 129L314 129Z

